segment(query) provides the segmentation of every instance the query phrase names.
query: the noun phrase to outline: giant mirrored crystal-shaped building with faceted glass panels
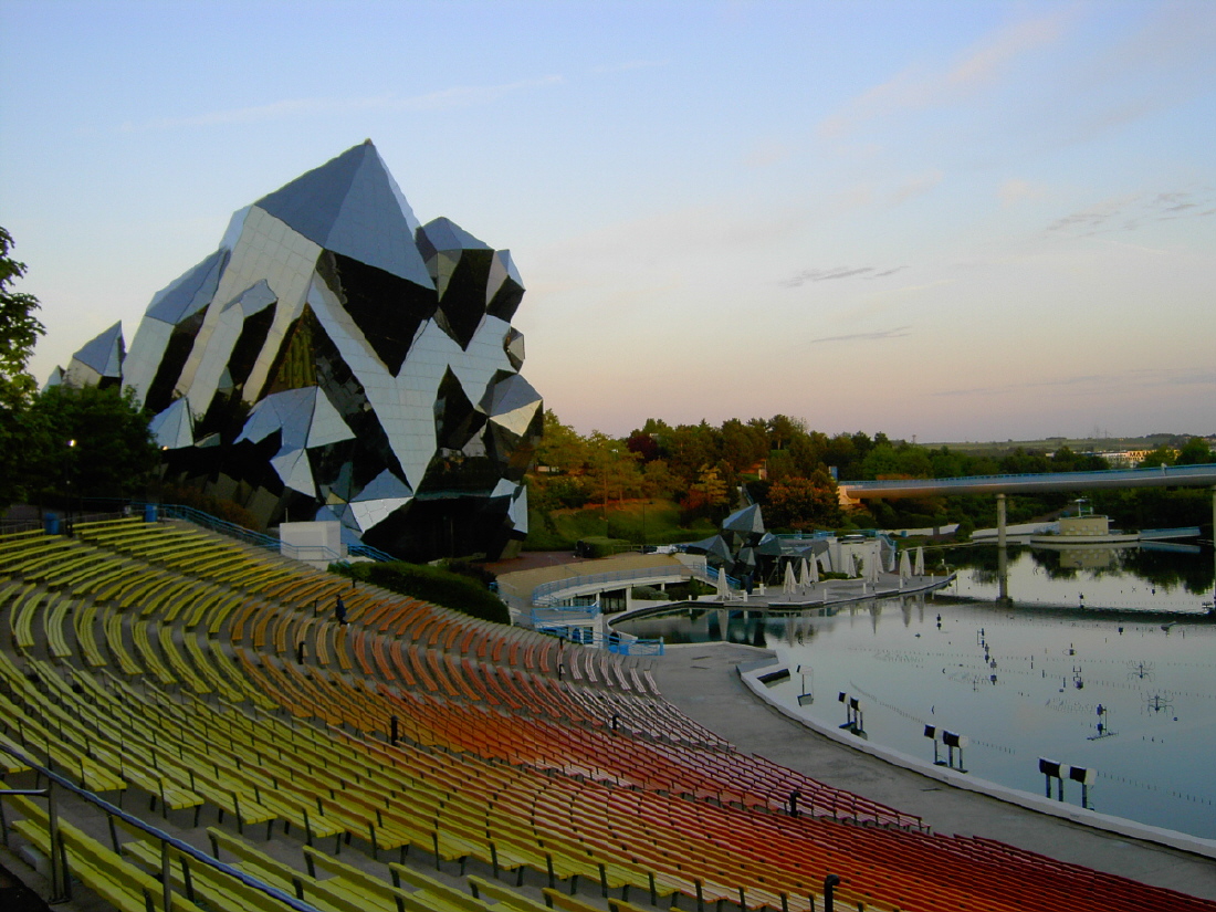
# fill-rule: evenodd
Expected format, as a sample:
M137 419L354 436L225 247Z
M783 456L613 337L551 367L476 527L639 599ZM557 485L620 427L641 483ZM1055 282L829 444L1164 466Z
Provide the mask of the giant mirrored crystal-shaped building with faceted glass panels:
M338 519L411 558L527 534L540 394L523 282L447 219L420 225L371 141L237 212L219 249L52 382L120 383L167 474L260 522Z

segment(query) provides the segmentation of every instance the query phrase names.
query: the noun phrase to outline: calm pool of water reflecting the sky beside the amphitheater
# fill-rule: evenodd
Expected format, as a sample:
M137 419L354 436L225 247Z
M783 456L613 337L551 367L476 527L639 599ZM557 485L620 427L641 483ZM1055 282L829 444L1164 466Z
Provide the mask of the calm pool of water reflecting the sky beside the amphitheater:
M835 699L845 693L872 742L933 762L940 745L927 726L955 732L969 741L969 775L1053 798L1063 788L1080 804L1080 783L1040 772L1052 758L1096 771L1086 788L1096 810L1216 838L1211 552L1082 558L1009 548L1004 604L996 548L975 548L950 554L963 564L958 584L928 601L789 617L706 603L621 627L669 643L767 646L801 672L772 697L822 725L848 724Z

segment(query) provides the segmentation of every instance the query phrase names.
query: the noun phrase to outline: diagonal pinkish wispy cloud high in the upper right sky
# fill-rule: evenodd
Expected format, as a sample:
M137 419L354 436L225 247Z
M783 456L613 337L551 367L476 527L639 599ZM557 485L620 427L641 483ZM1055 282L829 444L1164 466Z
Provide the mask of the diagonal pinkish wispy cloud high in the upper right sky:
M822 120L820 135L844 136L877 117L938 107L972 95L996 80L1018 57L1058 41L1073 16L1064 11L1018 22L973 46L948 68L936 72L905 69Z

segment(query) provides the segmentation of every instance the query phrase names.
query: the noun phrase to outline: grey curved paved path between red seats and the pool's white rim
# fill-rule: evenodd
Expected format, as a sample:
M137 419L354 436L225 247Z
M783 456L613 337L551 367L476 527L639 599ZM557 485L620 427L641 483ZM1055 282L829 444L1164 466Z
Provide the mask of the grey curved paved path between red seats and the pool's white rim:
M664 697L741 750L919 815L935 833L1000 839L1060 861L1216 900L1216 861L1211 858L955 789L798 725L753 697L734 670L741 662L771 654L732 643L669 647L654 660L652 674Z

